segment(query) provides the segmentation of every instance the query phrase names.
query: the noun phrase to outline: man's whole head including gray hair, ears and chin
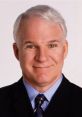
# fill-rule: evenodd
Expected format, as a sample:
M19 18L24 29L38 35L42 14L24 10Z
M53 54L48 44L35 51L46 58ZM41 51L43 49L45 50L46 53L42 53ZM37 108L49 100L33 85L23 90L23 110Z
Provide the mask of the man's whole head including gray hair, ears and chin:
M23 77L37 90L47 90L60 78L67 55L63 17L47 5L38 5L17 18L13 33Z

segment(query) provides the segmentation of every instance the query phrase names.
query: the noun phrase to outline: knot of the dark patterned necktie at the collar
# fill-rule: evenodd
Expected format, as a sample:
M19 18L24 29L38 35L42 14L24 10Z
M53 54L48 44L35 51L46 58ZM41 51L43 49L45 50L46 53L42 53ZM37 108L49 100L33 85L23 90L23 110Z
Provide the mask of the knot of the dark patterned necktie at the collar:
M40 107L45 100L46 97L43 94L37 95L35 98L35 107Z

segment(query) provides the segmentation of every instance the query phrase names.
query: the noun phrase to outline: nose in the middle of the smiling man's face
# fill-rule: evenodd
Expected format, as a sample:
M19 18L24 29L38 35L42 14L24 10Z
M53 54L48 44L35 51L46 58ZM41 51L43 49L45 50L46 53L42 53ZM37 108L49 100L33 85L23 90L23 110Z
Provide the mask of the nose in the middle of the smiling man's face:
M36 53L35 59L38 62L45 62L48 60L48 51L44 48L39 48L39 50Z

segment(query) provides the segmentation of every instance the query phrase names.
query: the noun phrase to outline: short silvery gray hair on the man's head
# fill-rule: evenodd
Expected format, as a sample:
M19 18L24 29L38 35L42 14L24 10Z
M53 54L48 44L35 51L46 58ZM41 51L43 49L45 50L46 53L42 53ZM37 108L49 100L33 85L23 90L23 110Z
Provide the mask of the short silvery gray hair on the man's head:
M13 30L13 35L14 35L15 41L17 40L17 33L19 31L21 22L24 19L28 19L31 17L41 17L41 18L44 18L45 20L60 24L60 26L64 32L64 36L66 37L67 27L65 24L65 20L63 19L61 14L57 10L55 10L54 8L52 8L48 5L37 5L37 6L34 6L30 9L26 10L24 13L20 14L18 16L18 18L16 19L15 24L14 24L14 30Z

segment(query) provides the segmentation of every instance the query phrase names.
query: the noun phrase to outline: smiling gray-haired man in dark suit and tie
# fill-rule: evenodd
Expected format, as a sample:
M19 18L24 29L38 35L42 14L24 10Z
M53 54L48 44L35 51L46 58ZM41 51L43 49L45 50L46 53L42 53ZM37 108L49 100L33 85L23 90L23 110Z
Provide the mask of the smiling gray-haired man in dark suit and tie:
M34 6L17 18L13 32L23 76L0 89L0 117L82 117L82 89L62 74L68 42L60 13Z

